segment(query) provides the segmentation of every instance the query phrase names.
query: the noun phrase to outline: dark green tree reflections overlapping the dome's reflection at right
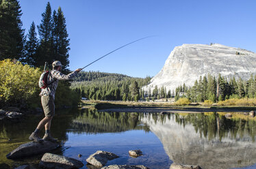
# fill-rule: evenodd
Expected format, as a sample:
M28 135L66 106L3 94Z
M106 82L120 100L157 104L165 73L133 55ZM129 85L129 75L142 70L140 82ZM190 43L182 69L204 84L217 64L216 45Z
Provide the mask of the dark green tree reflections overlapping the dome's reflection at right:
M216 112L200 113L200 114L175 114L175 121L180 125L192 124L194 129L199 132L200 136L204 136L212 140L217 135L220 140L231 134L231 138L239 136L242 138L244 134L249 134L255 141L255 127L256 123L253 119L227 119L224 115Z

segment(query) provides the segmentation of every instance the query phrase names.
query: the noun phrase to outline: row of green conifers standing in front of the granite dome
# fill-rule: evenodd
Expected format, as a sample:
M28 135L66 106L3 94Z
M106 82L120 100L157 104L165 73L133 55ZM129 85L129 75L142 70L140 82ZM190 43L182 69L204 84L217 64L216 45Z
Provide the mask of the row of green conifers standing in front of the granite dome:
M242 78L225 78L218 75L218 78L208 74L199 78L194 82L194 86L178 87L175 90L175 99L179 97L188 97L192 102L204 102L211 100L212 102L223 101L231 98L255 98L256 97L256 76L251 74L248 80Z

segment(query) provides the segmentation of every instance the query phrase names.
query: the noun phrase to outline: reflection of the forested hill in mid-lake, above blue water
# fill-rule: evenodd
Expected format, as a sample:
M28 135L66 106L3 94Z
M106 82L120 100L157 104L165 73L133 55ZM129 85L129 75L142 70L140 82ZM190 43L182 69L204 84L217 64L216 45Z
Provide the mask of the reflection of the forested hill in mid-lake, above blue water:
M74 132L105 133L125 132L130 129L144 129L149 127L140 125L138 112L97 112L97 110L84 109L84 112L73 120L71 126Z

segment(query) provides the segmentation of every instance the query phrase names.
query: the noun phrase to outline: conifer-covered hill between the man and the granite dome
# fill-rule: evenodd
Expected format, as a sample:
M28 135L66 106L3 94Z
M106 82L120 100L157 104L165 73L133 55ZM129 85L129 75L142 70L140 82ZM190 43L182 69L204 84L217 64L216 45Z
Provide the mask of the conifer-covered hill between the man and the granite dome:
M81 78L82 77L82 78ZM71 88L81 97L97 100L136 101L144 99L145 91L141 88L149 84L151 78L131 78L123 74L101 72L81 72ZM78 81L87 80L87 81Z

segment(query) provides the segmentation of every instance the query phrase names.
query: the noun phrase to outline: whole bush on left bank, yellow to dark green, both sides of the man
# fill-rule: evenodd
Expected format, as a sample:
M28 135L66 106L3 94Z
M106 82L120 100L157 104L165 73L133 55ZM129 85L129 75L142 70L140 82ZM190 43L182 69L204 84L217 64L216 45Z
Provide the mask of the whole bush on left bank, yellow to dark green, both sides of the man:
M0 107L40 107L38 80L42 71L39 68L23 65L19 61L0 61ZM77 106L79 93L70 89L69 82L59 82L55 93L56 108Z

